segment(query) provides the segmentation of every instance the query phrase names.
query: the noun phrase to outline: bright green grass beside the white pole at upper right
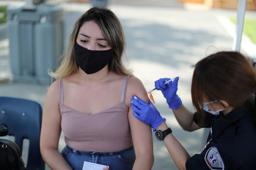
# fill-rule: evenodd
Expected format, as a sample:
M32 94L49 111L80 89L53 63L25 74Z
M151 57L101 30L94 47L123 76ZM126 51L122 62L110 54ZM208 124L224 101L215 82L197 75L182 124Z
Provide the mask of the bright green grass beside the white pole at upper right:
M229 18L236 24L236 18ZM246 34L252 42L256 44L256 19L244 19L243 33Z

